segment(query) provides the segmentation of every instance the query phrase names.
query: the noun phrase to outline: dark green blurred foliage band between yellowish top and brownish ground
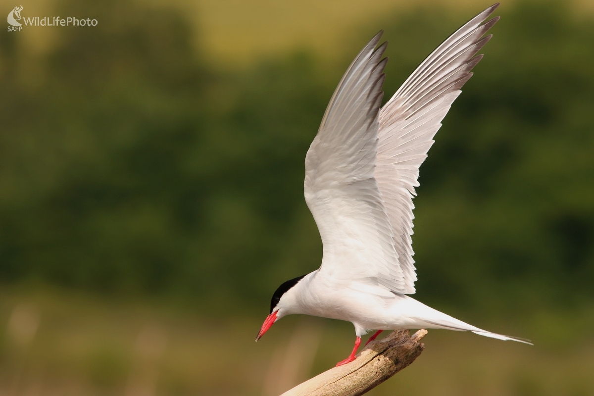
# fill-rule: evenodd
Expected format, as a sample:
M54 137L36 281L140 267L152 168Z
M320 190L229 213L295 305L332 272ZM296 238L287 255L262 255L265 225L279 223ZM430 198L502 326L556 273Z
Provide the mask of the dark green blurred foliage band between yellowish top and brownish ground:
M358 46L385 28L387 99L469 18L419 8L361 28L340 66L306 50L222 72L172 9L58 7L80 9L102 23L59 30L34 65L1 38L0 279L228 313L263 311L320 263L303 163ZM421 168L419 295L476 311L590 304L594 22L561 1L498 14Z

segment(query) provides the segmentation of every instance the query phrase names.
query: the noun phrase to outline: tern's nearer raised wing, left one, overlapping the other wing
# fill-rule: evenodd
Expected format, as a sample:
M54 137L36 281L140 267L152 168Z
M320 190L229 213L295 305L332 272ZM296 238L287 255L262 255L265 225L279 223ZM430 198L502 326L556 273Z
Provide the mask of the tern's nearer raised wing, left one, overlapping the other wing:
M340 80L305 157L305 201L324 245L319 274L405 292L394 235L374 178L384 83L381 32ZM388 290L386 290L389 293Z

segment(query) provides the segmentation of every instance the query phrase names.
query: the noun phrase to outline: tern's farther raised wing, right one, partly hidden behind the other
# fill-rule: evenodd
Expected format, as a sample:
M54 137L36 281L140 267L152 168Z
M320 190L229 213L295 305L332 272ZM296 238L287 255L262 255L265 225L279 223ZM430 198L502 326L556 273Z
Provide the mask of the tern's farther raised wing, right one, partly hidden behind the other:
M476 52L491 39L491 35L483 36L498 17L482 23L498 5L476 15L441 43L380 111L374 176L390 220L406 294L415 293L410 235L419 166L427 157L441 120L472 76L470 70L482 58L475 56Z

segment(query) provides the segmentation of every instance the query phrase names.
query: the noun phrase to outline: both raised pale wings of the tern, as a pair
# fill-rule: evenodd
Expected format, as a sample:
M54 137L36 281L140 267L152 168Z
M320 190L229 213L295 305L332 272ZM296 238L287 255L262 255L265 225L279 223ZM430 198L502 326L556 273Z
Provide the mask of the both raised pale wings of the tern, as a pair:
M305 158L305 200L324 246L318 273L328 280L415 292L410 236L419 166L481 60L475 55L498 18L484 21L497 6L448 37L381 109L381 31L347 68Z

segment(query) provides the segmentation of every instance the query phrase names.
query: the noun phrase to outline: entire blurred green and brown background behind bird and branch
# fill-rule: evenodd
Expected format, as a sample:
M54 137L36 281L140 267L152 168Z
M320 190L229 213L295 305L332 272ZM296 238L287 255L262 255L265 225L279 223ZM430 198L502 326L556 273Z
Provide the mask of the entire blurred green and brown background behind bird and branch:
M315 270L304 159L380 28L387 100L478 0L2 0L0 395L274 396L352 325L271 294ZM421 167L429 331L369 395L594 395L594 2L508 0Z

